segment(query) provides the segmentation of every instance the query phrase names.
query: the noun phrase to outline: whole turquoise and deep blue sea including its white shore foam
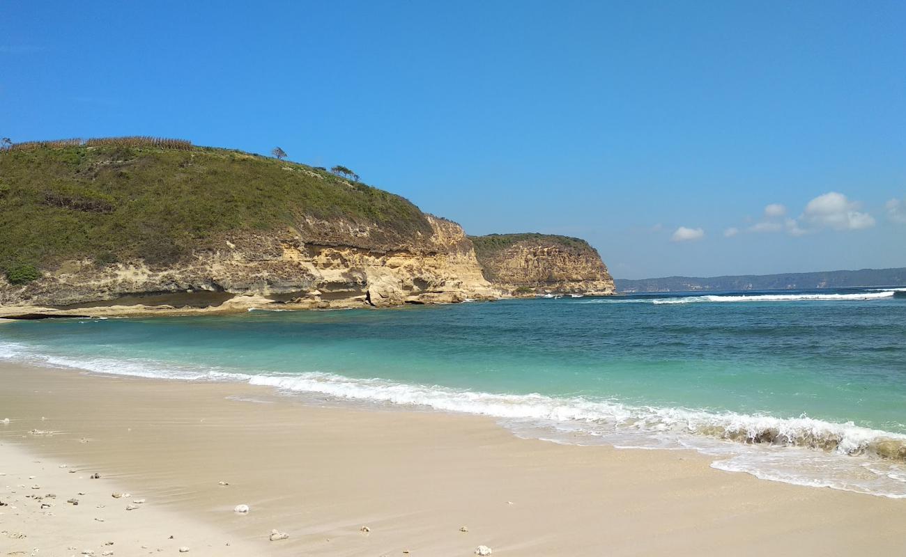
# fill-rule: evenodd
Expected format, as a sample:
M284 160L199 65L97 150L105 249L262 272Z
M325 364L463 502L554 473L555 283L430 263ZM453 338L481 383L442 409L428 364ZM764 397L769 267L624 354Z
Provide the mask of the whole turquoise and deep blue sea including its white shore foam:
M727 470L906 497L904 290L15 322L0 358L486 414L520 435L692 447Z

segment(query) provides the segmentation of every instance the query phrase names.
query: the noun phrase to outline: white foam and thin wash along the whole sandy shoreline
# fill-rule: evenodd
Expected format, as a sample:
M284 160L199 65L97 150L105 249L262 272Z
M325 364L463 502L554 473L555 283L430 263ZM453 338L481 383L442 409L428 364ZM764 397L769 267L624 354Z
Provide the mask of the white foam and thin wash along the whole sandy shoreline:
M499 418L517 433L562 442L617 447L692 448L715 457L712 466L797 485L829 486L906 498L906 465L897 456L906 435L852 422L631 406L616 400L494 394L323 372L240 373L149 360L49 355L40 347L0 342L0 360L145 378L244 381L284 393L382 403ZM526 434L527 432L527 434Z

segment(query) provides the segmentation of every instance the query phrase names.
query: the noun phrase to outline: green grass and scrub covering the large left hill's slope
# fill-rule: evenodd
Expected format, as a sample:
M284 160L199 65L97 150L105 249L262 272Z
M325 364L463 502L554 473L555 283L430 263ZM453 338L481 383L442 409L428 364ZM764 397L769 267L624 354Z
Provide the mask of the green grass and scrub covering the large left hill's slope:
M306 218L431 234L403 197L322 169L183 143L94 141L0 150L0 270L24 281L34 276L27 265L68 259L172 264L225 235L302 230Z

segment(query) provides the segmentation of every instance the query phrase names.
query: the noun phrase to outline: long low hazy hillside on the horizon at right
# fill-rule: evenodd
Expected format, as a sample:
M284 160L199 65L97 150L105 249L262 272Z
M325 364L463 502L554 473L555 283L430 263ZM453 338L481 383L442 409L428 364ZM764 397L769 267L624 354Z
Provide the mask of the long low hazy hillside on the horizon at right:
M616 279L617 292L689 292L696 290L795 290L850 286L906 285L906 267L819 271L817 273L740 274L735 276L667 276L656 279Z

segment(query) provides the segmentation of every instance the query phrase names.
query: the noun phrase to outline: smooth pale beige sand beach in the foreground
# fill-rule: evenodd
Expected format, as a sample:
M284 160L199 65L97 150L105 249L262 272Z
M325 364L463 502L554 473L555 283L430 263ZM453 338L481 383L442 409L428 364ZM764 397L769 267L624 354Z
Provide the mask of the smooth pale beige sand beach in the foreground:
M8 364L3 418L2 555L906 553L904 500L721 472L691 451L519 439L490 418Z

